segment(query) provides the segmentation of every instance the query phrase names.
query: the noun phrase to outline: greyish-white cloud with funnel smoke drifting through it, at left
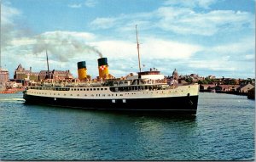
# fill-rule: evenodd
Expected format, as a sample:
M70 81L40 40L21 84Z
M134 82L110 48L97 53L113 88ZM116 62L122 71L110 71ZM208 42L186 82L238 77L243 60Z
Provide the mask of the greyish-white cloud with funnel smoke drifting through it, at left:
M101 54L96 48L88 45L94 39L93 34L86 32L50 31L38 36L15 38L12 40L12 46L4 49L3 54L11 52L14 58L19 58L20 54L25 57L33 54L37 58L47 50L52 56L51 59L69 62L83 53L92 53L96 56Z

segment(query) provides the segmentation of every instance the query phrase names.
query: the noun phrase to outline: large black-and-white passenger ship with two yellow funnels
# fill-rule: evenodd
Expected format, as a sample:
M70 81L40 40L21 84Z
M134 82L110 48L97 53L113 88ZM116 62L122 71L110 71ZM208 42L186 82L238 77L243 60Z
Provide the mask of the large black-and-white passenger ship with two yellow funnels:
M142 72L140 60L139 69L137 76L125 80L108 79L108 60L100 58L100 80L92 82L86 77L87 69L85 61L82 61L78 63L80 81L35 83L26 88L23 98L26 103L82 109L196 115L198 84L178 85L176 70L172 74L172 81L166 81L157 70Z

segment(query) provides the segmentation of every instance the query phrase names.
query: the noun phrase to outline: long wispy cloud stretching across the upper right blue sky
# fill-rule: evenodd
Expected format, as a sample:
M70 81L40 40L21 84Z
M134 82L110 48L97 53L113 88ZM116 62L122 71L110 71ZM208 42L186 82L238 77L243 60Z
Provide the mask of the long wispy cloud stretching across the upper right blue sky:
M194 2L194 1L189 1ZM197 1L197 3L202 1ZM202 4L201 4L202 5ZM166 6L148 13L120 14L116 17L96 18L90 23L95 29L129 31L141 24L147 30L172 31L183 35L213 36L218 32L241 31L254 28L254 15L232 10L196 11L194 8Z

